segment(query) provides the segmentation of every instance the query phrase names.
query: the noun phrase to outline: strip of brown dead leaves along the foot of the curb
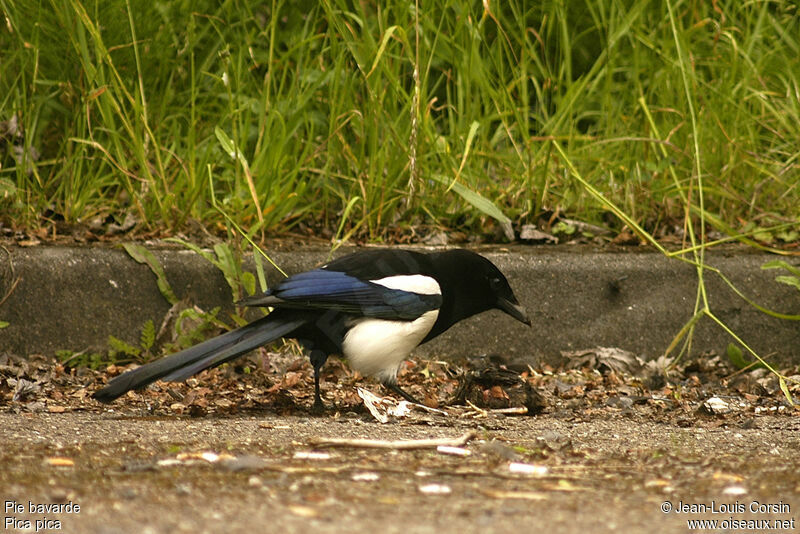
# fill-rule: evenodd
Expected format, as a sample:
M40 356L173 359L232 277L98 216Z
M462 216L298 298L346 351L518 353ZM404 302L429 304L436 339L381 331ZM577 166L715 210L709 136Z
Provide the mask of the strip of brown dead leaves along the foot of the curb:
M618 349L565 353L564 365L504 365L498 358L476 358L462 365L438 361L406 362L400 383L431 408L465 406L459 417L552 413L560 418L646 417L679 426L725 424L760 414L798 415L765 369L738 371L727 359L700 355L669 372L665 362L643 362ZM527 367L527 368L526 368ZM105 371L69 368L43 357L23 360L0 355L0 406L13 411L63 413L98 410L91 393L127 367ZM797 369L785 371L800 378ZM788 381L793 395L800 384ZM357 385L379 391L340 360L323 369L322 389L330 412L366 414ZM308 359L291 351L257 351L249 357L190 378L130 392L117 411L202 417L241 410L307 413L313 402L313 371ZM426 414L424 417L432 417ZM716 422L716 423L715 423Z

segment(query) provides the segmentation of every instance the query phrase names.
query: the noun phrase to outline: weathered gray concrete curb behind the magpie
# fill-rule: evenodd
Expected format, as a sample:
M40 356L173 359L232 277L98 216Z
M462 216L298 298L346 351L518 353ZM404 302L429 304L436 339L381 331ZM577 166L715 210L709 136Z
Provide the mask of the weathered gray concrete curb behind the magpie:
M230 309L231 293L221 273L186 250L153 249L179 298L204 309ZM343 251L344 252L344 251ZM645 358L659 356L691 317L697 287L693 267L656 253L585 248L484 248L503 270L533 328L500 312L467 320L418 349L419 354L498 354L556 360L562 350L620 347ZM325 250L280 251L273 259L287 272L325 261ZM800 292L774 281L760 267L775 256L735 250L711 253L746 295L784 313L800 313ZM789 259L800 264L797 258ZM103 247L11 248L0 253L0 351L52 354L59 349L104 349L109 335L138 339L148 319L160 324L169 308L149 268L123 250ZM800 361L800 322L771 318L707 273L709 299L725 321L762 355ZM271 273L271 280L279 275ZM709 319L700 322L694 351L724 352L731 338Z

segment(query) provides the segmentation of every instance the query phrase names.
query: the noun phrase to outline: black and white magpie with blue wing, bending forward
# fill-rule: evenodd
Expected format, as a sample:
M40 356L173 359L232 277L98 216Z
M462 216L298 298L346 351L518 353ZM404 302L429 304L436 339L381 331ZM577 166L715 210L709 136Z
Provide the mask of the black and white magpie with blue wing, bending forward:
M467 250L423 254L365 250L295 274L240 301L271 307L266 316L188 349L127 371L94 393L111 402L156 380L181 381L278 338L295 338L314 367L314 411L323 409L319 373L343 355L363 375L417 402L397 385L397 371L418 345L458 321L499 309L530 326L503 273Z

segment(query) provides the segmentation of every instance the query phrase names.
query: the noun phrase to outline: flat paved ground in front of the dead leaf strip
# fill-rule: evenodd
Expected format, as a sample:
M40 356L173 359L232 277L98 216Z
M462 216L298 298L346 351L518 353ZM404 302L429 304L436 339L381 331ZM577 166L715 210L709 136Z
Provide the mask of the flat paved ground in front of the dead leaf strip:
M756 417L748 428L681 428L635 413L578 419L381 425L352 413L3 413L6 531L17 531L8 518L22 527L25 519L46 518L59 521L61 532L99 534L687 532L695 519L727 526L731 519L780 520L788 528L779 531L797 531L797 417ZM320 436L398 440L468 431L477 433L468 457L310 445ZM223 459L203 459L204 452ZM534 467L514 472L512 462ZM31 502L73 503L80 511L31 514ZM678 506L707 508L677 513ZM706 531L746 531L724 526Z

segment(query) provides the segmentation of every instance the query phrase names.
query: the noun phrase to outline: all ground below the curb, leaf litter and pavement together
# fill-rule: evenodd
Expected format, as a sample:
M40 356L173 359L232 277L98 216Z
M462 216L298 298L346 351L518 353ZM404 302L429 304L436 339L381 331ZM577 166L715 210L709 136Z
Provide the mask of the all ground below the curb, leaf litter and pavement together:
M796 531L800 411L763 370L702 362L666 381L637 379L599 360L580 369L530 369L518 382L502 375L494 385L483 371L473 373L467 382L477 389L466 393L464 375L422 362L401 383L415 394L461 391L465 406L441 403L442 413L414 411L383 424L355 396L358 377L343 366L329 366L332 407L313 417L309 369L292 362L294 370L280 373L274 361L249 376L215 370L104 406L87 395L104 372L6 358L4 527L102 534ZM540 395L532 399L520 384ZM539 413L507 415L498 411L503 403ZM455 448L387 443L462 436L469 441ZM322 438L382 440L390 448L333 447ZM52 508L59 503L66 506ZM693 528L694 520L718 523Z

